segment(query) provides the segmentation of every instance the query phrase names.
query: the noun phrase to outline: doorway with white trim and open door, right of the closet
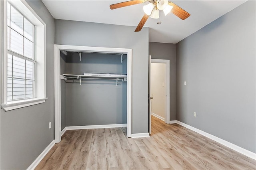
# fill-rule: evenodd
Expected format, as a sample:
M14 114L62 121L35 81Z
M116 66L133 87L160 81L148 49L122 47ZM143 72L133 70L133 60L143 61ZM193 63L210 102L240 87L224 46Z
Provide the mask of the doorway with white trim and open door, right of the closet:
M170 122L170 60L150 59L149 117ZM149 119L151 133L151 119Z

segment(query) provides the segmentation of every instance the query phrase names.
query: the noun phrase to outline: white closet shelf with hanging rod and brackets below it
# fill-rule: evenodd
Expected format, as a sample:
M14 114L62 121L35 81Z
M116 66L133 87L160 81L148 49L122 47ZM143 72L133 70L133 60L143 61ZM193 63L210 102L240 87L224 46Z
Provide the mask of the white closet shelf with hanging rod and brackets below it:
M81 85L81 79L102 79L102 80L115 80L116 86L118 85L118 80L127 81L126 74L111 74L111 73L84 73L79 74L63 74L60 75L61 79L79 79Z

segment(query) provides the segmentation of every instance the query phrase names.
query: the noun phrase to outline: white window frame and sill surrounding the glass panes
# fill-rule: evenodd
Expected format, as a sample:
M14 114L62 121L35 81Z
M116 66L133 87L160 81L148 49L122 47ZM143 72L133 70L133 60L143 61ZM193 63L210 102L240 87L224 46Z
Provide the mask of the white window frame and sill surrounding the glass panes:
M3 44L2 52L2 96L1 107L4 111L10 111L22 107L44 103L46 99L46 24L34 12L34 10L23 0L8 0L8 2L18 10L36 28L34 33L34 59L35 65L35 98L7 101L7 1L2 1L3 10L1 11L2 32L0 34Z

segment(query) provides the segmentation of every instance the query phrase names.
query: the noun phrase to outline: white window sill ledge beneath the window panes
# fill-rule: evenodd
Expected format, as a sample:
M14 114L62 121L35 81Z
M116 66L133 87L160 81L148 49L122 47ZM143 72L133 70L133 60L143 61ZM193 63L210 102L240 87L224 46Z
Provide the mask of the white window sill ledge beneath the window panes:
M8 102L7 104L1 104L1 107L2 107L2 109L4 109L4 111L10 111L13 109L19 109L22 107L27 107L27 106L44 103L46 99L48 99L48 98L34 98L34 99L12 101L12 102Z

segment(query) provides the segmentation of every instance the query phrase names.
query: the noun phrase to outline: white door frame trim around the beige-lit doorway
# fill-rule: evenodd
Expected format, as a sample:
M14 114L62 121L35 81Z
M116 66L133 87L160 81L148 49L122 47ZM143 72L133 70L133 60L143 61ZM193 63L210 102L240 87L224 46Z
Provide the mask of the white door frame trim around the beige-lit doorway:
M166 113L164 122L169 124L170 123L170 60L169 59L151 59L151 63L164 63L166 64L165 67L165 79L166 79ZM150 63L150 65L151 65ZM150 70L151 71L151 70ZM151 113L150 113L151 115ZM151 124L151 121L150 121Z

